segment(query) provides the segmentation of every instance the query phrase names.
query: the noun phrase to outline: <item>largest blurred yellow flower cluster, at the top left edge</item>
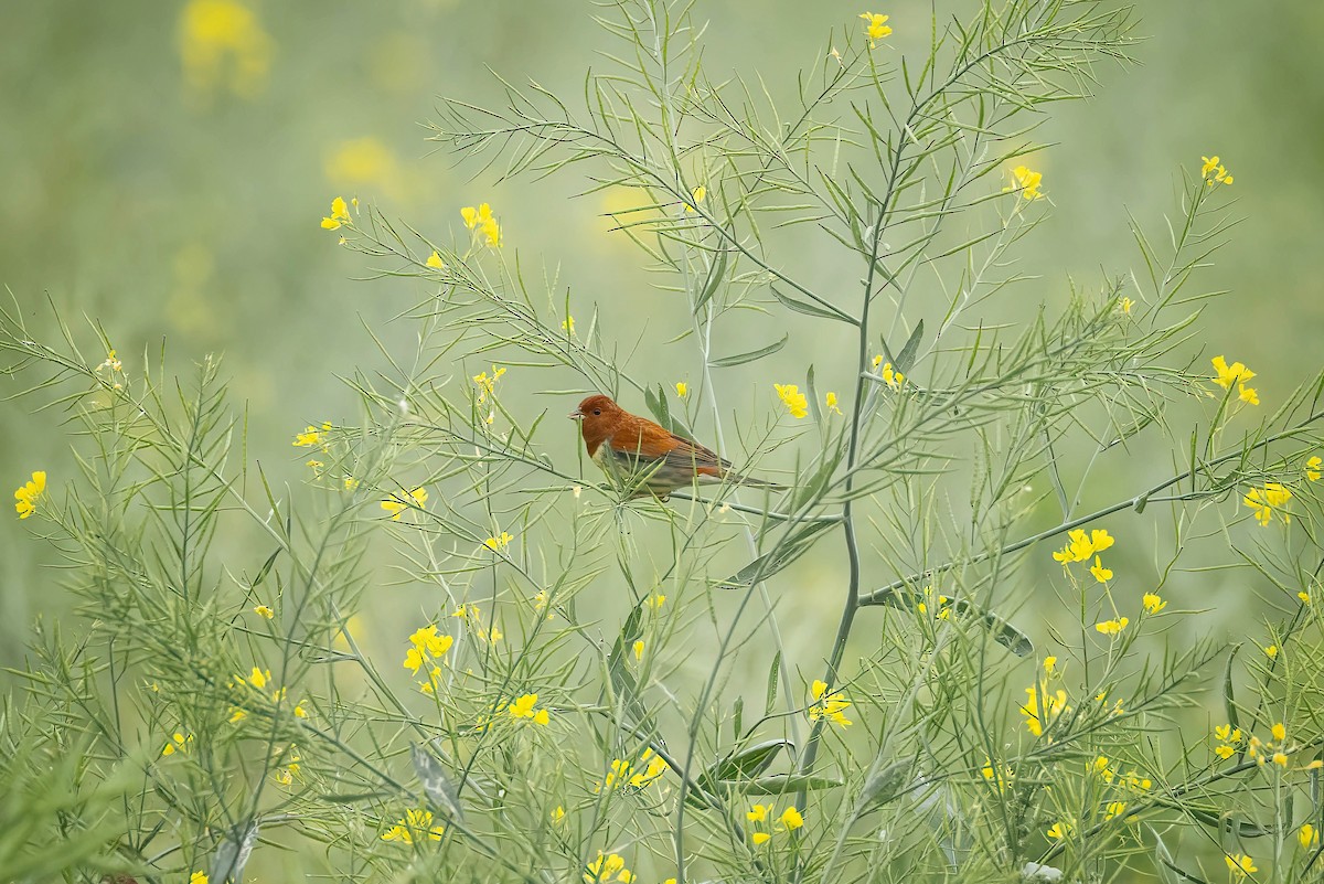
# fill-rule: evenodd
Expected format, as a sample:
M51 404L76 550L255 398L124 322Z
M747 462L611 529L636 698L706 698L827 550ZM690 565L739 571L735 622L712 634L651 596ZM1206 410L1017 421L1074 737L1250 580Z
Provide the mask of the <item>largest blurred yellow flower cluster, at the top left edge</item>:
M257 15L237 0L189 0L179 21L179 53L189 87L228 87L253 98L266 85L271 37Z

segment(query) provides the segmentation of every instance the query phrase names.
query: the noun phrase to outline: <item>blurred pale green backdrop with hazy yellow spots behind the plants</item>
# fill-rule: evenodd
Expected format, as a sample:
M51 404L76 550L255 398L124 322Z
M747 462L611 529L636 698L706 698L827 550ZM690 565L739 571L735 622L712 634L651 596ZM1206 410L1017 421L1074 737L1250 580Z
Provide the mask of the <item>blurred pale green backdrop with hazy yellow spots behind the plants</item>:
M896 28L890 50L920 46L928 4L878 11ZM441 94L499 101L486 67L581 95L585 66L604 66L597 53L612 45L594 12L588 3L450 0L9 4L0 15L11 36L0 53L0 282L44 333L53 331L48 298L74 326L82 316L99 322L130 373L163 340L175 372L224 353L236 402L250 409L250 455L290 480L305 476L305 458L290 447L298 429L359 417L335 376L380 364L361 323L404 345L414 330L388 320L422 294L412 282L355 279L369 277L371 265L319 229L336 195L359 196L442 241L459 206L490 201L508 250L528 267L560 266L576 312L602 304L609 330L626 341L645 311L670 330L683 308L651 288L642 255L608 233L602 197L575 197L584 185L575 172L496 187L490 173L474 179L477 167L455 168L432 152L420 124ZM789 98L796 73L817 69L830 34L858 26L859 12L841 3L702 0L708 74L757 71ZM1178 167L1194 169L1202 154L1217 152L1237 177L1245 222L1200 281L1231 291L1207 308L1201 335L1206 359L1226 352L1260 375L1271 409L1324 355L1315 266L1324 229L1324 7L1251 15L1215 0L1148 3L1140 13L1136 33L1148 40L1135 49L1139 66L1100 66L1098 97L1054 109L1038 132L1055 143L1035 157L1055 209L1018 254L1018 269L1037 279L1016 296L1061 306L1068 274L1092 288L1137 263L1127 212L1161 236ZM817 257L794 261L813 266ZM741 385L767 382L769 372L802 377L826 343L793 336L776 365L732 375L728 397L747 401ZM643 363L657 369L646 380L692 377L691 363L692 348L658 349ZM531 412L560 408L535 393L526 389ZM11 487L46 468L58 494L71 471L62 416L33 416L29 402L4 409L0 455ZM567 427L553 454L571 462L575 445ZM64 607L48 592L58 578L42 569L49 561L26 525L0 519L0 662L17 659L13 639L40 610ZM1245 596L1227 584L1219 578L1202 598L1223 607L1223 625L1243 614L1234 602Z

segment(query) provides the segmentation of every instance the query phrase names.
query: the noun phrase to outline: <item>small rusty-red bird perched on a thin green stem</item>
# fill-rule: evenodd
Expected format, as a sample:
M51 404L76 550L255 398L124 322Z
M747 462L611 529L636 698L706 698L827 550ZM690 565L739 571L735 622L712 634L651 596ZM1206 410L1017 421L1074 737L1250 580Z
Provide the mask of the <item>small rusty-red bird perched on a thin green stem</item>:
M580 422L588 457L629 498L653 495L666 500L677 488L698 479L785 491L785 486L775 482L740 475L726 458L645 417L630 414L610 396L589 396L569 418Z

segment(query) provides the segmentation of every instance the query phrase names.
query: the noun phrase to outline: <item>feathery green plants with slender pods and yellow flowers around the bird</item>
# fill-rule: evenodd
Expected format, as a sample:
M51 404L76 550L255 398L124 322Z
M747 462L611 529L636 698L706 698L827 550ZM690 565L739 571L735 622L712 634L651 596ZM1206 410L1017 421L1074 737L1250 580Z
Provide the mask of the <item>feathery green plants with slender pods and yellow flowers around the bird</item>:
M299 488L248 451L217 359L176 378L4 312L9 375L69 414L81 466L29 495L81 609L0 729L15 880L242 880L277 848L343 880L1207 880L1242 856L1320 879L1324 377L1256 425L1245 367L1204 371L1226 187L1186 175L1161 245L1137 222L1141 271L1059 307L1013 296L1049 202L1009 165L1128 57L1129 12L984 3L933 19L918 60L851 20L776 107L710 79L691 7L606 9L583 107L506 83L432 130L479 175L630 196L613 221L683 294L667 345L691 392L650 373L638 330L581 304L576 331L579 302L526 277L486 205L451 245L328 216L426 294L401 311L414 351L375 337L348 378L360 425L295 437ZM858 286L784 258L801 237ZM822 375L779 360L842 327L814 368L849 386L820 401ZM805 371L812 417L712 372L745 364ZM555 408L503 398L516 382L555 408L612 393L789 491L622 499L557 457ZM1160 578L1115 577L1110 531L1152 533ZM1280 613L1241 663L1162 594L1230 568ZM364 650L356 613L401 586L426 590L417 631ZM792 634L796 597L839 607L835 635Z

